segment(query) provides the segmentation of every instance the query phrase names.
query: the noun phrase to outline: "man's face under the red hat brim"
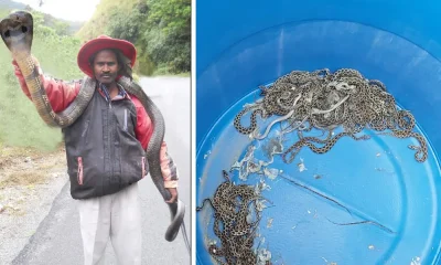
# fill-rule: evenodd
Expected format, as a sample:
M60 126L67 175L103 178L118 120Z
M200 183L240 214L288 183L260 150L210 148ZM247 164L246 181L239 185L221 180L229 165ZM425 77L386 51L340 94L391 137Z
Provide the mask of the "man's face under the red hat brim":
M100 51L95 56L93 68L97 81L107 85L111 84L118 76L117 56L111 51Z

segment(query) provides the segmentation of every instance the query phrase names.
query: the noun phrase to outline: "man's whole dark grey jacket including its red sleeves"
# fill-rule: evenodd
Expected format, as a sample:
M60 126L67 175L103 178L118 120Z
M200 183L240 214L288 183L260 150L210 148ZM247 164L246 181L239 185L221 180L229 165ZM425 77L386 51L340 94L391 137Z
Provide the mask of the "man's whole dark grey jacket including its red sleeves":
M78 95L80 82L67 83L44 76L39 62L34 63L52 108L55 113L64 110ZM12 64L23 93L31 99L17 62ZM140 180L148 172L142 157L152 132L151 119L137 97L126 94L112 100L110 108L106 96L97 88L83 116L64 129L72 197L110 194ZM165 141L160 159L164 187L178 188L176 166Z

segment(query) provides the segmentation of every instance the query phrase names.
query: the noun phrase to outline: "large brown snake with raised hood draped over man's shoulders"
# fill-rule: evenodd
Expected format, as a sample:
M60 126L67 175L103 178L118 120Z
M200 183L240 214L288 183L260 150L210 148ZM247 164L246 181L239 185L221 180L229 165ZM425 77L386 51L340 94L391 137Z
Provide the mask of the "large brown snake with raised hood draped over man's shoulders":
M0 33L4 44L10 50L12 57L17 61L24 76L32 102L44 123L51 127L60 128L68 127L75 123L87 107L87 104L94 94L96 80L85 77L79 94L75 100L65 110L55 113L40 81L36 64L31 54L33 40L32 14L24 11L9 14L9 17L0 21ZM153 135L146 150L146 158L149 163L150 176L153 183L163 199L168 201L171 199L171 194L164 188L160 166L160 149L165 132L163 116L138 84L130 81L128 77L121 77L118 83L122 85L129 94L132 94L140 99L153 123ZM168 203L168 205L171 213L171 224L166 229L165 240L169 242L174 241L180 227L182 227L182 233L190 252L190 244L187 242L184 224L185 205L179 199L174 203Z

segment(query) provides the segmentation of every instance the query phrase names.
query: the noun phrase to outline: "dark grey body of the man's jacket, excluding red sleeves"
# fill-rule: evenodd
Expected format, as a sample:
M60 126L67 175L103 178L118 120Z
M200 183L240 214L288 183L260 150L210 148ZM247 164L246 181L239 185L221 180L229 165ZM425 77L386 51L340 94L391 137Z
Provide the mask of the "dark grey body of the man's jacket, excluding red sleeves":
M118 192L148 173L136 124L137 110L130 99L108 103L96 91L83 115L64 129L74 199Z

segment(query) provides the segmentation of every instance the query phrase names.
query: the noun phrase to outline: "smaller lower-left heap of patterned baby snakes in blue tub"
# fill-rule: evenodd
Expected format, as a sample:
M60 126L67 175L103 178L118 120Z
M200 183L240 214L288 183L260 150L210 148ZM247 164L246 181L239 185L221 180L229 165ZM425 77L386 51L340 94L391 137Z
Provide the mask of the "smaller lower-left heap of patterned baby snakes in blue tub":
M252 250L256 230L261 219L257 200L261 197L252 186L235 184L223 170L225 181L220 183L213 199L205 199L196 211L209 203L214 213L214 233L220 239L220 246L211 244L208 253L222 265L257 264L257 254ZM256 220L250 220L251 208Z

